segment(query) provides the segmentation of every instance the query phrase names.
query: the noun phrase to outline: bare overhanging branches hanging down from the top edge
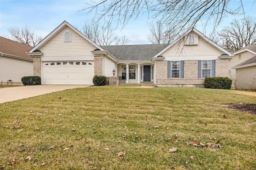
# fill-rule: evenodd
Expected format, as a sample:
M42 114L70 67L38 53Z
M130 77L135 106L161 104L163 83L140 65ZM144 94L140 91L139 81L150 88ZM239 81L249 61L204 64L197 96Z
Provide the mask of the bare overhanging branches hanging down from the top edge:
M140 14L147 15L148 21L159 20L165 25L172 25L173 32L179 33L194 28L198 22L206 26L213 22L214 28L228 14L244 14L242 0L235 10L229 9L232 0L102 0L86 3L88 7L80 10L95 12L94 19L103 19L107 25L121 24L123 27L132 18Z

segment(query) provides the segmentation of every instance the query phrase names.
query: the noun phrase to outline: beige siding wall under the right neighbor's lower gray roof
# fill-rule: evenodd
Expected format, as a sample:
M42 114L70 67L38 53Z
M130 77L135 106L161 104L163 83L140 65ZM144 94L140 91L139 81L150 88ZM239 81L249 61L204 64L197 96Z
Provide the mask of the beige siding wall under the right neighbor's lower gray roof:
M253 88L256 89L256 66L236 69L236 83L238 89L251 89L254 78L255 82Z

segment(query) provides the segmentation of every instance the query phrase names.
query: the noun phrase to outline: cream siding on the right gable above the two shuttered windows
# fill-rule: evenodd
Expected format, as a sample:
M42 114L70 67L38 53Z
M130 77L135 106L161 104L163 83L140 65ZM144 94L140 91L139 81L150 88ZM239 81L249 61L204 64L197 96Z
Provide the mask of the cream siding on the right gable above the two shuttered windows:
M172 58L197 57L200 59L200 57L218 57L223 53L200 37L198 38L198 45L184 45L184 38L182 40L182 42L177 42L172 47L164 51L161 55Z

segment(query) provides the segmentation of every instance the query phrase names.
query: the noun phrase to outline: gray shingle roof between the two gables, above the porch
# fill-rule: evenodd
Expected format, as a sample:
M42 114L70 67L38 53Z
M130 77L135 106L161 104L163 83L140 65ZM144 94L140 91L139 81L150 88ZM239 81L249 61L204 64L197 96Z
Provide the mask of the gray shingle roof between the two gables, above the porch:
M108 45L100 46L110 52L119 61L123 60L151 60L156 54L169 44L146 44L146 45Z

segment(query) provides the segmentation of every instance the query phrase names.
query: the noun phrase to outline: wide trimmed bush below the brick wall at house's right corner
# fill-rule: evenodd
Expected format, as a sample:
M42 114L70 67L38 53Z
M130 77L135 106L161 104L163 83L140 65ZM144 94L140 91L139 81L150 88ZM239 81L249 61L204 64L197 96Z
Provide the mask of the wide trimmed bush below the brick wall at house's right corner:
M228 77L206 77L204 88L209 89L231 89L232 80Z

